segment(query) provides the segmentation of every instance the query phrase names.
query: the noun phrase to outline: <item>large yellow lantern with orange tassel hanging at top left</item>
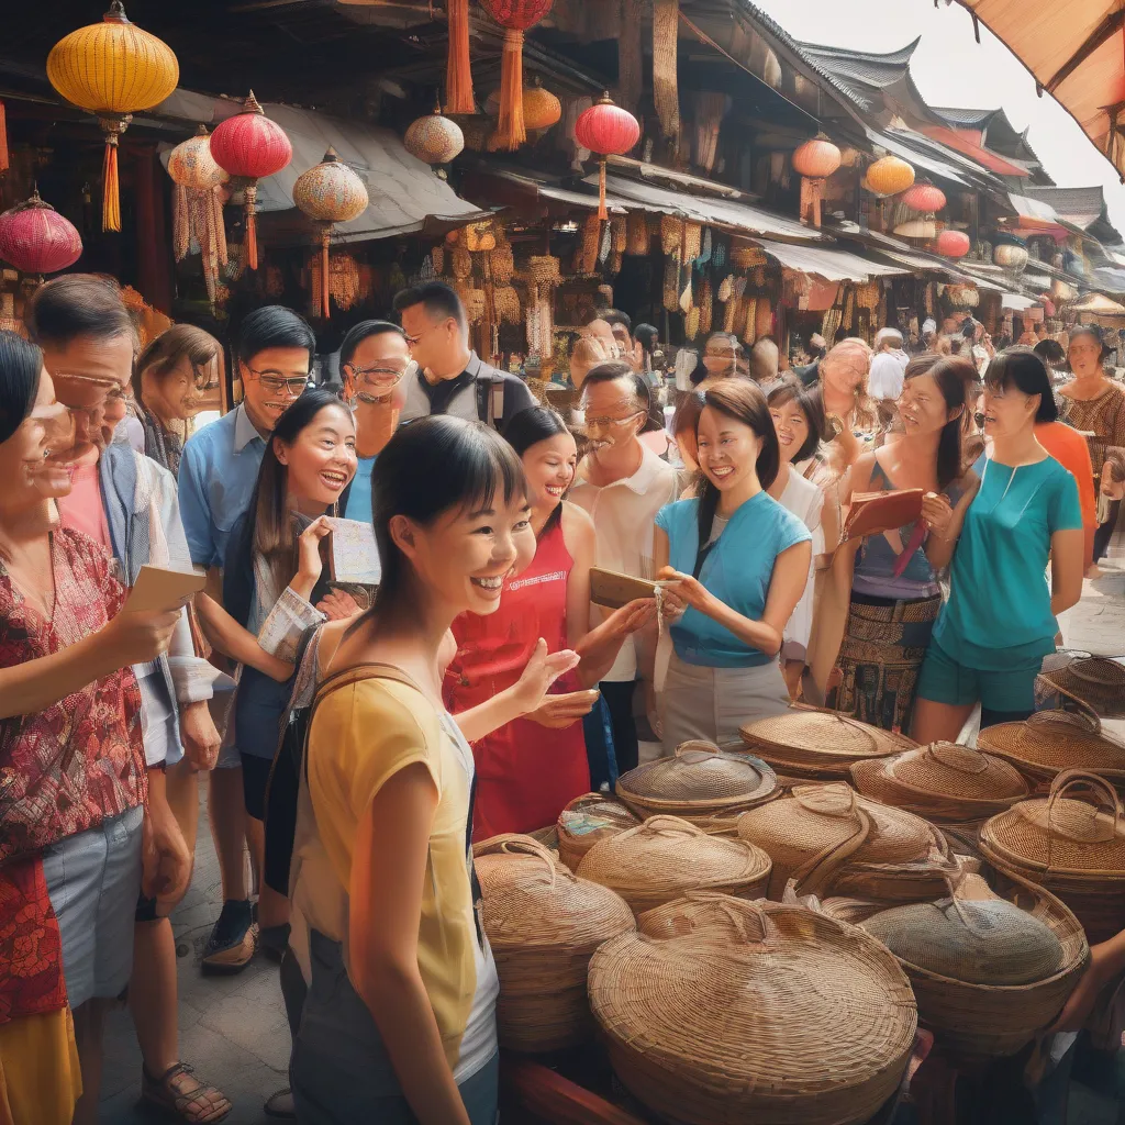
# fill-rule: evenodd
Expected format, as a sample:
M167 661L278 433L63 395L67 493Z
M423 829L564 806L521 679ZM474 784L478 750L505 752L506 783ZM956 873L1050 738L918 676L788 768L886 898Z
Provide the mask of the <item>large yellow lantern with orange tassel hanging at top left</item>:
M112 0L100 24L80 27L47 55L47 78L70 102L94 114L106 134L101 228L122 228L117 145L133 115L159 106L180 80L172 48L142 32Z

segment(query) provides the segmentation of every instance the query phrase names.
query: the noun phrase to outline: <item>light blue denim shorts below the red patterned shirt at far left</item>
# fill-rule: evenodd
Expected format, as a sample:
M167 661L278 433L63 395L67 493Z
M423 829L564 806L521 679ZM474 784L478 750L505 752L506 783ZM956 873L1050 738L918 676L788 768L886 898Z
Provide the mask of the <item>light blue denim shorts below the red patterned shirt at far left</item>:
M143 821L144 808L137 806L44 849L71 1008L119 997L129 982Z

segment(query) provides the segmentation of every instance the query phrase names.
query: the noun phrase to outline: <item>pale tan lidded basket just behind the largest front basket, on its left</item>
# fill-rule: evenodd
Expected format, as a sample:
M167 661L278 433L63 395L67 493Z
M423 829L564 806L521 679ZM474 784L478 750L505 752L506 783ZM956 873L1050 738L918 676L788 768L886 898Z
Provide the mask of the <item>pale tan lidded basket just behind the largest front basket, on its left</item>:
M758 898L770 882L770 856L678 817L651 817L595 844L578 874L612 888L640 914L694 890Z

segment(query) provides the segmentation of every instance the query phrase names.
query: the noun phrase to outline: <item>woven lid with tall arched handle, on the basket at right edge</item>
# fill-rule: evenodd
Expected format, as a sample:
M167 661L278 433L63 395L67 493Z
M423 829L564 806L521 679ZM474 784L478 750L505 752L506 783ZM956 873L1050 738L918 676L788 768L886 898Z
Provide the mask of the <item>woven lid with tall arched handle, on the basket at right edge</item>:
M992 817L981 828L981 844L1044 872L1125 879L1120 798L1104 777L1081 770L1059 774L1048 796Z

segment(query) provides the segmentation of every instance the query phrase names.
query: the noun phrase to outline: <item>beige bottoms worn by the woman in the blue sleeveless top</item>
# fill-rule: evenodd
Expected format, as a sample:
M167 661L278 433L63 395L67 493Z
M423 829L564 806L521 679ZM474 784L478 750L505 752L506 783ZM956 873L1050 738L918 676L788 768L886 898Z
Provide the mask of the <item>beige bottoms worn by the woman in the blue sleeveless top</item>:
M790 699L776 662L756 668L710 668L685 664L673 652L662 703L664 753L674 754L693 738L740 748L738 728L783 714Z

